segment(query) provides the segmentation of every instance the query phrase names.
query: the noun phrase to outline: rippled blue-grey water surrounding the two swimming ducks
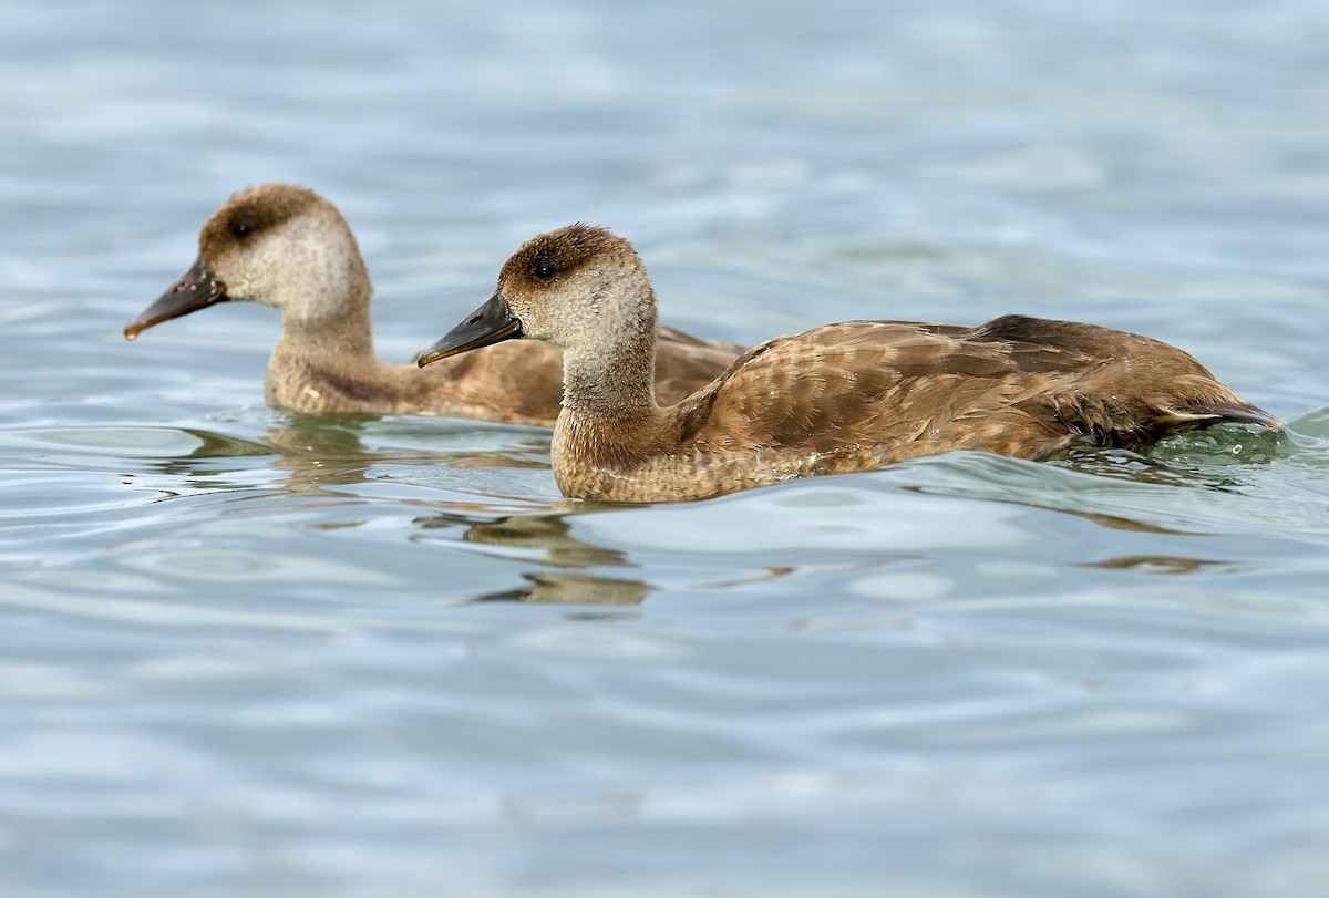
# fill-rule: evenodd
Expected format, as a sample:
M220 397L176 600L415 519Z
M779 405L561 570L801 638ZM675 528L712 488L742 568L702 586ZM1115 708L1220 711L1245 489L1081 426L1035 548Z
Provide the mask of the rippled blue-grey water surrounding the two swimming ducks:
M0 5L0 894L1329 889L1329 8ZM405 360L525 238L664 320L1092 320L1288 420L715 501L120 331L307 183Z

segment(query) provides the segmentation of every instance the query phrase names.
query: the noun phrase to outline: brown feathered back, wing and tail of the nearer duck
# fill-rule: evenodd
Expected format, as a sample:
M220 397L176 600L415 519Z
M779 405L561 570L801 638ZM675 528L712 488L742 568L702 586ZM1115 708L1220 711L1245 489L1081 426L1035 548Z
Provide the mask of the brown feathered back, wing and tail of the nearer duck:
M1075 442L1139 446L1219 418L1277 421L1166 343L1014 315L776 337L676 410L682 442L884 462L950 449L1042 457Z

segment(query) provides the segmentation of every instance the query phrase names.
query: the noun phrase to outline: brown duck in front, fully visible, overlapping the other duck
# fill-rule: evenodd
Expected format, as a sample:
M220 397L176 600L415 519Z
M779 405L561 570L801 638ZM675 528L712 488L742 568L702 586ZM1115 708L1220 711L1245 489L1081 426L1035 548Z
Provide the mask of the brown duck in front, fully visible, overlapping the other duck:
M823 324L752 347L662 405L655 315L633 246L570 224L521 246L489 300L417 364L512 339L561 347L554 478L565 495L610 502L702 499L956 450L1043 460L1216 421L1278 425L1176 347L1023 315Z

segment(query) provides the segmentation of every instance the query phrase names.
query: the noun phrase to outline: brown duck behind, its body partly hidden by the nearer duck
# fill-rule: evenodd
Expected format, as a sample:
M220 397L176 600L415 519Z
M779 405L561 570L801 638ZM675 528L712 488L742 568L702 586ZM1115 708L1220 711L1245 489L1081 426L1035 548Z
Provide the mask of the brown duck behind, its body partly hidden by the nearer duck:
M562 399L561 351L493 347L421 371L375 355L372 284L351 227L328 199L291 183L233 195L203 224L198 258L125 327L125 337L217 303L282 312L267 364L267 403L294 412L436 414L553 426ZM743 345L662 327L655 385L678 401L707 384Z

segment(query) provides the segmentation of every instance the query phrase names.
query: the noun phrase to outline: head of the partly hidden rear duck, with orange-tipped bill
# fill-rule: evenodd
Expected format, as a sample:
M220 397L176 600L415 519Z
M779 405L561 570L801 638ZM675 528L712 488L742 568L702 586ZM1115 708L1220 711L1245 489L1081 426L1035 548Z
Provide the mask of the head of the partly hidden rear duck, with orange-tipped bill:
M355 236L332 203L307 187L262 185L207 219L198 259L125 325L125 337L230 300L272 306L288 321L335 320L358 302L367 307L369 290Z

